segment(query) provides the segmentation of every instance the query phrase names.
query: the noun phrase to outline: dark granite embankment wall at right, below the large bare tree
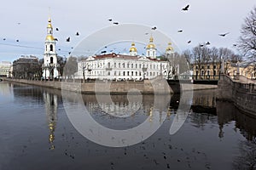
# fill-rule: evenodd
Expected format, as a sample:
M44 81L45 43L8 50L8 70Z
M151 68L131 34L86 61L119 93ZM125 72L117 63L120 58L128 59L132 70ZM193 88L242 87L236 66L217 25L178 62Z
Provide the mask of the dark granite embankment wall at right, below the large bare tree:
M232 80L226 75L221 75L217 99L233 101L238 109L256 117L256 82L242 78Z

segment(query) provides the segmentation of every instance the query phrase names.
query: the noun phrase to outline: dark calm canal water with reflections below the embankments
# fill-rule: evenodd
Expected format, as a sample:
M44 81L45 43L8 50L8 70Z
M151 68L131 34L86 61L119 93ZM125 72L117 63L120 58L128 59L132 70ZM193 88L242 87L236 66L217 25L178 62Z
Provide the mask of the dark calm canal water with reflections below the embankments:
M191 109L178 115L180 98L172 95L167 110L156 111L154 95L114 95L110 102L104 95L63 97L61 90L0 82L0 169L256 168L256 119L216 101L215 90L195 91ZM184 122L170 133L178 120ZM132 131L142 124L144 136ZM81 129L87 125L92 128ZM131 140L117 141L109 129L132 134Z

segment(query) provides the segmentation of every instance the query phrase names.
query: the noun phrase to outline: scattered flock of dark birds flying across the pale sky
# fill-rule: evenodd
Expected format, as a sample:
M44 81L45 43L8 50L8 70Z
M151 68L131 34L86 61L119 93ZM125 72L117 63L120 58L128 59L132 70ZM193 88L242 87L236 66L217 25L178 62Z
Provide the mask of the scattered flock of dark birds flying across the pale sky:
M184 8L182 8L182 11L184 11L184 12L188 11L188 10L189 10L189 7L190 7L189 4L186 5ZM119 25L119 22L118 22L118 21L114 21L114 20L111 19L111 18L109 18L108 21L111 22L113 25ZM18 22L17 24L20 25L20 22ZM155 31L155 30L157 30L157 27L156 27L156 26L153 26L153 27L151 28L151 30L152 30L152 31ZM60 31L60 29L59 29L58 27L56 27L56 28L55 28L55 31ZM178 30L177 32L178 32L178 33L183 33L183 30ZM229 33L230 33L230 32L219 33L218 36L220 36L220 37L226 37ZM74 35L77 36L77 37L79 37L79 35L80 35L79 31L77 31ZM148 32L146 32L145 35L148 35ZM7 38L6 38L6 37L3 37L3 41L6 41L6 40L7 40ZM58 41L58 39L55 38L55 41ZM15 42L20 42L20 40L19 40L19 39L16 39ZM67 37L67 38L66 38L66 42L71 42L71 37ZM192 41L189 40L187 43L189 44L189 43L191 43L191 42L192 42ZM200 46L200 47L204 47L204 46L207 46L207 45L210 45L210 44L211 44L210 42L204 42L204 43L199 43L199 46ZM14 46L15 46L15 45L14 45ZM236 47L236 44L233 44L233 46ZM72 49L73 49L73 48L72 48ZM58 50L59 50L59 51L62 51L62 52L67 52L68 54L71 54L71 51L61 50L61 48L58 48ZM102 54L104 54L104 53L106 53L106 52L103 51Z

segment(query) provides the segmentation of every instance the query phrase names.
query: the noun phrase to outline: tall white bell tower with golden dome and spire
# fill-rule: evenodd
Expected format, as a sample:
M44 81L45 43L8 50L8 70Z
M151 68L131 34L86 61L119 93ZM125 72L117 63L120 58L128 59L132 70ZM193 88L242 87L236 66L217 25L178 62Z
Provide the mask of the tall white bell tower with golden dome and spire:
M57 63L57 54L55 52L55 38L53 37L53 27L51 20L48 20L47 36L44 42L44 64L43 64L43 78L54 79L59 76Z

